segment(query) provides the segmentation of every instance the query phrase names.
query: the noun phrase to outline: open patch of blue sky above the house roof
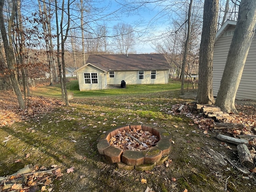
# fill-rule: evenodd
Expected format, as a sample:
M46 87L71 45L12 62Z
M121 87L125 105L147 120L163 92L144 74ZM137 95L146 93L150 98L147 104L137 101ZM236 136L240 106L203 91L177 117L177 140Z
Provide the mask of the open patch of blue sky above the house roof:
M108 21L108 26L114 26L117 22L124 22L130 24L135 28L136 34L140 40L136 46L136 53L151 53L156 52L152 46L152 39L166 31L169 25L169 18L163 14L165 8L164 2L160 1L158 4L153 3L126 3L124 0L110 0L104 1L106 6L105 14L113 12L116 14L116 19Z

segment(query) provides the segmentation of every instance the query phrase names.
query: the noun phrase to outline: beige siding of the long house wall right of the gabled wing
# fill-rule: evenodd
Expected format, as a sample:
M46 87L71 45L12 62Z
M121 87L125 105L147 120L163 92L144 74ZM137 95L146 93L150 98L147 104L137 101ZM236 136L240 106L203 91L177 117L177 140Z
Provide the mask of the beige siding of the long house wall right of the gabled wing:
M168 70L156 70L156 79L151 79L151 70L144 70L144 79L139 79L138 70L114 71L115 77L110 78L107 74L108 84L166 84L168 83Z

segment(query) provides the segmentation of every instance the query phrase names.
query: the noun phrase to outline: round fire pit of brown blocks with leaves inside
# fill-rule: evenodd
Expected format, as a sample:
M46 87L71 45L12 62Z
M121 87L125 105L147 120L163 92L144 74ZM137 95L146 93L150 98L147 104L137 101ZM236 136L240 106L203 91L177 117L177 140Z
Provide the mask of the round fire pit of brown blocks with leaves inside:
M168 160L172 149L170 133L146 124L130 124L108 130L98 141L97 148L103 160L126 170L152 170Z

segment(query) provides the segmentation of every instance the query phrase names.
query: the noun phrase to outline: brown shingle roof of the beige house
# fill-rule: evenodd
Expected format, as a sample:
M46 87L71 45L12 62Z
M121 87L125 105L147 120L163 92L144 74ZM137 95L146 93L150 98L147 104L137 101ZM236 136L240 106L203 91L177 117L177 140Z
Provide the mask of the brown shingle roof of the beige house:
M86 64L102 70L165 70L169 69L163 54L90 55ZM81 68L83 68L82 66ZM77 69L80 70L81 68ZM77 71L76 70L76 71Z

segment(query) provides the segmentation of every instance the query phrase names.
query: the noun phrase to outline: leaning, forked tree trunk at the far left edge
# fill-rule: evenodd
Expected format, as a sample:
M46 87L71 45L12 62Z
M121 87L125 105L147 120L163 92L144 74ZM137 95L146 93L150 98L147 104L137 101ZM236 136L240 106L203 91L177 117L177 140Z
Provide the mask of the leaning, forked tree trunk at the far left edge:
M12 14L11 14L10 20L8 21L9 42L8 42L8 37L7 37L7 33L6 33L6 28L4 25L4 15L3 15L4 0L0 0L0 30L1 30L1 34L2 34L3 43L4 43L4 51L6 54L7 66L8 66L8 69L10 70L10 79L12 82L12 87L13 87L14 92L18 98L19 107L21 109L24 109L25 103L24 103L24 100L22 97L22 93L21 93L19 84L16 79L15 68L14 68L15 56L14 56L14 52L13 52L13 48L12 48L12 40L11 40L12 32L10 29L11 29L12 23L14 21L14 15L15 15L15 10L16 10L15 0L13 0L12 3L13 3Z

